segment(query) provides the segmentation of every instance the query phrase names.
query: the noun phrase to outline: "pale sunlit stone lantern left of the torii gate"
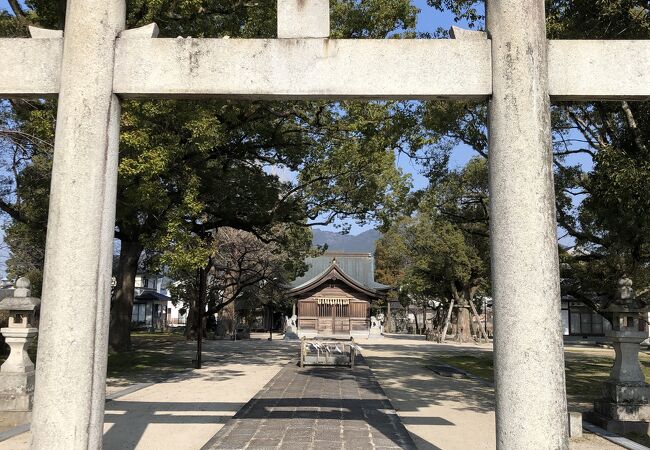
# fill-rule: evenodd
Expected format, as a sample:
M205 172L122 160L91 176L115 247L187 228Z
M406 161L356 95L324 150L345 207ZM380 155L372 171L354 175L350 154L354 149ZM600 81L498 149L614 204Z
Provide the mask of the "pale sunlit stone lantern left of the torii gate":
M35 312L41 300L31 297L27 278L19 278L13 297L0 300L0 310L9 311L9 325L0 329L11 348L0 367L0 411L14 412L18 422L29 416L34 395L34 363L27 348L38 334Z

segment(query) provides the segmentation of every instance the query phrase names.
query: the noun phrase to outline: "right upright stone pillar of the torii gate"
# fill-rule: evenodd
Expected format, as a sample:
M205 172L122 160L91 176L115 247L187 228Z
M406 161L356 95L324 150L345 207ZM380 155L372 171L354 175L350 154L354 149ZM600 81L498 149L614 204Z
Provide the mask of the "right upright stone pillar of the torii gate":
M497 447L567 448L544 2L490 0Z

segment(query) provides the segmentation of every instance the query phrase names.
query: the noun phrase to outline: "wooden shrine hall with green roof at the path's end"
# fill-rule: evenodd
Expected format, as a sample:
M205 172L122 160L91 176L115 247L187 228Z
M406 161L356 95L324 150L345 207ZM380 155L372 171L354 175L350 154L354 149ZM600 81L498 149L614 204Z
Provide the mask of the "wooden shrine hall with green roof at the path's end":
M375 281L372 254L325 253L306 262L309 269L288 292L298 307L298 334L367 336L370 304L389 289Z

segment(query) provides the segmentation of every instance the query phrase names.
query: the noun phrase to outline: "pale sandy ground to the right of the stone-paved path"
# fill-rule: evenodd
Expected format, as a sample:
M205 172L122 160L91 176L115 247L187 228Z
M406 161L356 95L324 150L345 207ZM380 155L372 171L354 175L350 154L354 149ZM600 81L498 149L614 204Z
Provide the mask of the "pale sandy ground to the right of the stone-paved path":
M418 449L496 448L494 389L473 379L441 377L426 366L439 351L490 351L491 345L435 344L393 335L360 342L364 357ZM571 450L620 450L596 435L572 440Z

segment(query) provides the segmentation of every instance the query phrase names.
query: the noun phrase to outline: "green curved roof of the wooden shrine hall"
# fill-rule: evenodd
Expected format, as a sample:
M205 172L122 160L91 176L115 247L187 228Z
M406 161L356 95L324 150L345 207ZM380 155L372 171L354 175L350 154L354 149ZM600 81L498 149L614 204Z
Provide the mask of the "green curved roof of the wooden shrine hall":
M297 288L318 278L336 260L347 276L353 278L357 283L375 290L386 290L389 286L375 281L375 258L371 253L325 253L315 258L308 258L305 261L309 265L307 272L290 283L291 288Z

